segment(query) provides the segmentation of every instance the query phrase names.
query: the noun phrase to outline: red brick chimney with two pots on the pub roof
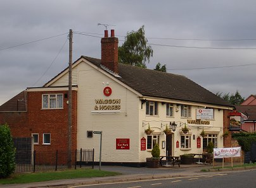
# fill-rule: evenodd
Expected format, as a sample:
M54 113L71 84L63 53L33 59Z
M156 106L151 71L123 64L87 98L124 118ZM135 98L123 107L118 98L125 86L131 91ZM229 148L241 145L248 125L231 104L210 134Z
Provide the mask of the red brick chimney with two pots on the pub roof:
M101 38L101 65L118 74L118 38L115 37L115 30L111 30L108 37L108 30L105 30L104 38Z

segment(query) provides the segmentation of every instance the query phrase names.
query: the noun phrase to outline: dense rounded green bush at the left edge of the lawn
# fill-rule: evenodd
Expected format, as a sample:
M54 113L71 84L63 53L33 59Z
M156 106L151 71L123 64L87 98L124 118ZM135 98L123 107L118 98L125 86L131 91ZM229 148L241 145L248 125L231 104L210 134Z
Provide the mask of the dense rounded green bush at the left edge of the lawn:
M15 170L15 147L7 124L0 126L0 178L8 177Z

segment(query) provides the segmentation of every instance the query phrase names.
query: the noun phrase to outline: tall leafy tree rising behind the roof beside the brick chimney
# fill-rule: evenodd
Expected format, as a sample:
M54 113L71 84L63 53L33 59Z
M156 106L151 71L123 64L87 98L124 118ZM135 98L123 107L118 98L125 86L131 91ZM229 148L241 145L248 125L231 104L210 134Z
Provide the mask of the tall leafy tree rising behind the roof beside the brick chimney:
M118 62L146 68L145 62L150 62L153 56L151 46L147 46L144 25L138 31L128 32L124 44L118 47Z

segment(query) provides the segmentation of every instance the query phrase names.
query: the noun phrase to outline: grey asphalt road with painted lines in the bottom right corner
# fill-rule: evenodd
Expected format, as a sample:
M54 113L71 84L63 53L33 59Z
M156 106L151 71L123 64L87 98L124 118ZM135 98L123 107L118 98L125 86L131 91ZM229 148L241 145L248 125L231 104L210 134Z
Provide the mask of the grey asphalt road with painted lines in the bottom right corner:
M108 183L108 184L96 184L96 185L79 185L73 186L76 187L125 187L125 188L136 188L136 187L189 187L189 188L198 188L198 187L255 187L256 170L250 170L246 172L227 172L227 173L216 173L210 174L205 173L205 175L192 175L187 177L174 177L169 179L151 179L151 180L140 180L134 182L118 182L118 183ZM70 187L71 188L71 187Z

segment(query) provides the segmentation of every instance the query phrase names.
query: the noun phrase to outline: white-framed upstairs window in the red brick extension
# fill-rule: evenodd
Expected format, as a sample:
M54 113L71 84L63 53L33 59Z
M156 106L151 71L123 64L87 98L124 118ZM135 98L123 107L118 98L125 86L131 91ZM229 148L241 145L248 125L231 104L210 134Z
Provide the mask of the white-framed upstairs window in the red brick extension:
M42 109L63 109L63 94L42 95Z

